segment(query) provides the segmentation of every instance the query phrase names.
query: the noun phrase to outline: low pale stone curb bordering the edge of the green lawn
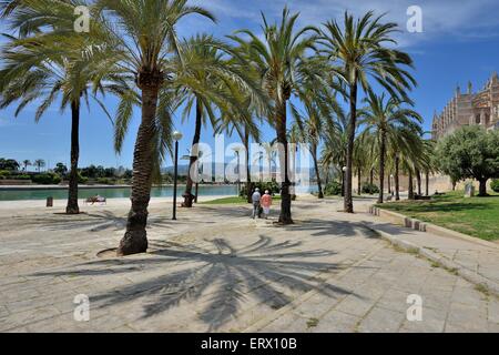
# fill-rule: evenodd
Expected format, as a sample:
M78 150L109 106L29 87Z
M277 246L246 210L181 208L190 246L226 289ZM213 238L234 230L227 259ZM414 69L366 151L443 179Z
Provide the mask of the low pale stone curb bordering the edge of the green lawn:
M499 250L499 244L483 241L478 237L466 235L466 234L462 234L462 233L459 233L456 231L451 231L446 227L435 225L435 224L431 224L428 222L422 222L422 221L419 221L416 219L411 219L411 217L408 217L408 216L397 213L397 212L388 211L388 210L385 210L381 207L376 207L375 205L369 206L369 213L373 215L379 216L379 217L387 216L389 219L395 219L399 222L399 224L401 224L408 229L419 231L419 232L428 232L428 233L432 233L432 234L436 234L439 236L460 239L460 240L465 240L470 243L480 244L480 245L483 245L487 247L492 247L492 248Z

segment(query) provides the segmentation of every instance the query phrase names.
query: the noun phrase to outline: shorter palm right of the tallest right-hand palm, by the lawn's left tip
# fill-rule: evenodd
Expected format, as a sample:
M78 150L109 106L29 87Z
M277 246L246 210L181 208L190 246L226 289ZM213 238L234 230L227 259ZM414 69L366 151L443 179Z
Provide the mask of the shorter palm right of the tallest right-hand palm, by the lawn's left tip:
M397 145L396 142L404 139L403 132L419 132L422 118L414 110L406 109L395 98L385 100L385 93L377 97L373 91L364 100L367 108L363 110L360 124L366 126L376 136L379 156L379 197L378 203L384 202L385 169L387 148ZM405 128L400 130L399 128Z

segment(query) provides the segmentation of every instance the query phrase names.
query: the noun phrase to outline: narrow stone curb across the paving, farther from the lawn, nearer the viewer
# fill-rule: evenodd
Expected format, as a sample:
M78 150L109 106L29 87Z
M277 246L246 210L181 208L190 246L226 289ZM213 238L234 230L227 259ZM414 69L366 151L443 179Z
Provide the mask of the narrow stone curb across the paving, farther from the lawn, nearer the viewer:
M448 260L447 257L445 257L440 254L437 254L428 248L417 246L410 242L401 241L389 233L375 230L371 226L368 226L367 224L365 224L365 226L368 227L369 230L378 233L385 241L388 241L390 244L396 245L396 246L405 250L406 252L416 252L417 254L428 258L429 261L431 261L434 263L437 263L438 265L442 266L444 268L456 272L457 275L461 276L466 281L468 281L477 286L487 287L488 292L490 292L493 295L496 295L497 297L499 297L499 284L497 284L496 282L493 282L489 278L486 278L477 273L473 273L473 272L456 264L455 262Z

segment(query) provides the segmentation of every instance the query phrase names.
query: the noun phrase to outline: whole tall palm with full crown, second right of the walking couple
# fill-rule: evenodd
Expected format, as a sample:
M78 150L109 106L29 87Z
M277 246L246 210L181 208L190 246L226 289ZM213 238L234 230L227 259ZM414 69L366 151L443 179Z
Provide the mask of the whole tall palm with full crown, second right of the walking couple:
M381 23L383 16L374 18L371 11L363 18L345 12L343 29L336 20L325 23L320 42L323 53L330 59L334 75L348 88L350 118L348 122L348 146L346 159L346 191L344 209L354 212L352 178L354 165L354 142L357 125L358 85L367 92L369 77L385 88L394 98L407 100L406 91L416 84L413 77L401 65L413 67L413 60L404 52L387 47L396 43L393 38L396 23Z

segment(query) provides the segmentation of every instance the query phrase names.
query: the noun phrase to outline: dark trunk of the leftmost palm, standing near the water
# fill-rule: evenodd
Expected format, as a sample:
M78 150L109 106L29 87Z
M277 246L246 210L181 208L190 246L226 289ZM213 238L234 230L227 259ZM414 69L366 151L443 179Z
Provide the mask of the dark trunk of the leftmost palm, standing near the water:
M80 158L80 103L71 102L71 171L69 176L67 214L79 214L78 160Z

